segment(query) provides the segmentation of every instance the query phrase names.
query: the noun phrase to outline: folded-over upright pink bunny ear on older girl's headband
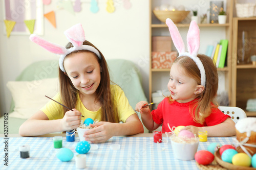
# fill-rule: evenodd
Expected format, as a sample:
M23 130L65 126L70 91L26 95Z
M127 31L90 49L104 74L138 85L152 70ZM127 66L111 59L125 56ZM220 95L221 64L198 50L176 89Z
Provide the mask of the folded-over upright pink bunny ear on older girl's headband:
M83 41L86 40L81 23L77 23L70 29L66 30L64 34L74 46L81 46Z

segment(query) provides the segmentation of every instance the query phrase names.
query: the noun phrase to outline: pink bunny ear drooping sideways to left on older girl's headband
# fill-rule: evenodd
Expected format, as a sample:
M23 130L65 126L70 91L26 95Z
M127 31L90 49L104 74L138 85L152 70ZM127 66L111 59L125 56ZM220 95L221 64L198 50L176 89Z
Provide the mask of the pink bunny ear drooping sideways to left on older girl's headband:
M55 53L55 54L66 54L67 49L64 46L49 42L41 37L39 37L36 34L31 34L29 39L33 41L34 43L44 47L49 52Z

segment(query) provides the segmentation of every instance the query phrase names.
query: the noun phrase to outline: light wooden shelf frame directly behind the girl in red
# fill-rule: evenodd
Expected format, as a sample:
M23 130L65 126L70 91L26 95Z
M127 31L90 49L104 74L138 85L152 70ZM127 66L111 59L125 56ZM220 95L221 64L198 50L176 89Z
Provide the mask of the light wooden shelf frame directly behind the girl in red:
M149 14L149 18L150 18L150 72L149 72L149 102L152 102L152 89L153 89L153 72L167 72L170 71L170 69L153 69L152 68L152 30L153 29L161 29L161 28L168 28L166 24L163 23L152 23L152 1L154 0L150 0L150 14ZM156 0L155 0L156 1ZM223 71L225 74L225 77L227 78L225 81L226 87L225 89L228 91L228 97L229 97L229 101L231 100L231 61L232 61L232 17L233 17L233 1L231 0L227 0L227 23L225 24L218 24L218 23L207 23L207 24L198 24L199 28L225 28L226 30L226 39L229 40L228 42L228 51L227 51L227 66L224 68L218 68L218 71ZM182 24L182 23L177 23L176 26L178 28L188 28L189 27L189 23L186 24ZM167 85L167 84L166 84Z

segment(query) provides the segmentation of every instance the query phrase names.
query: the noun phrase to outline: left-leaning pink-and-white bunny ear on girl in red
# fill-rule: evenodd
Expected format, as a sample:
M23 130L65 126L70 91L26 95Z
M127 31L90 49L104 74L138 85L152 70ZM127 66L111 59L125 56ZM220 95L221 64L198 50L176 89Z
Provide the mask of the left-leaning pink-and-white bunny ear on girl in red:
M173 39L174 45L178 50L179 54L185 53L185 45L184 42L182 40L182 37L180 35L180 32L178 30L178 28L176 27L176 25L174 24L174 22L172 21L172 19L167 18L166 19L166 25L169 28L169 32L170 32L170 36Z

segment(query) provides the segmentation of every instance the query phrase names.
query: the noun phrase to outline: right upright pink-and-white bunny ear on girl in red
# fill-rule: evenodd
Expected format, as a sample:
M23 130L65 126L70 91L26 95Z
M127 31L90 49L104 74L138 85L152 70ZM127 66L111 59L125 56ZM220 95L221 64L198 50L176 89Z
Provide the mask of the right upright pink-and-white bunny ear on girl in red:
M187 32L187 48L188 53L197 56L200 47L200 31L195 20L191 21Z

